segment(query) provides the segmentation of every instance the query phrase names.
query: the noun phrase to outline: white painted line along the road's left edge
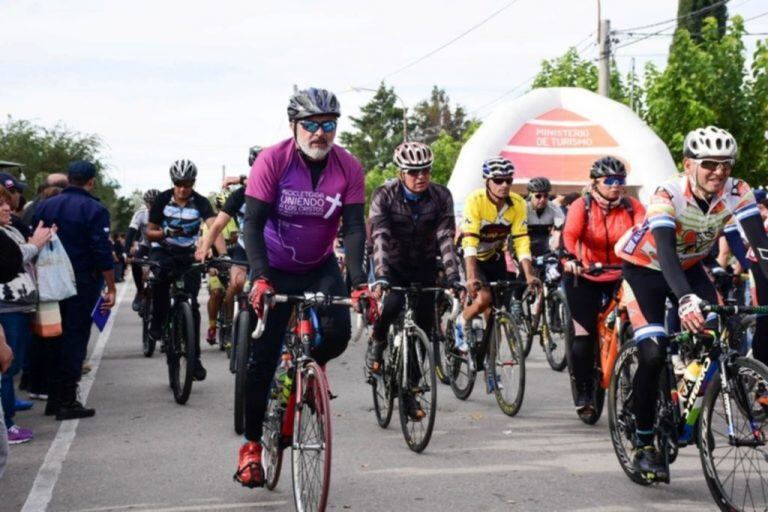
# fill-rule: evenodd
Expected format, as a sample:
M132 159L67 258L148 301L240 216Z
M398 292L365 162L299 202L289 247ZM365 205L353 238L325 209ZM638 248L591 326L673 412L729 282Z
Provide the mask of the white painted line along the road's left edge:
M99 339L96 341L96 347L93 349L93 354L88 362L91 364L91 371L87 375L84 375L80 380L80 400L83 404L88 401L88 394L91 392L91 386L96 379L96 373L99 371L99 363L101 362L101 356L104 354L104 348L109 340L109 334L112 332L112 326L115 324L115 318L117 318L117 310L120 308L120 304L123 302L125 292L130 286L124 285L123 289L117 297L117 303L112 309L112 314L109 316L107 325L104 326L104 330L99 334ZM59 479L61 469L64 464L64 459L67 458L69 448L72 446L72 441L75 439L77 433L77 425L80 420L68 420L62 421L59 431L56 433L56 437L51 443L51 447L48 449L48 453L45 455L43 465L37 472L35 482L32 484L32 489L29 491L27 501L24 502L22 512L43 512L48 508L48 504L53 497L53 488L56 486L56 481Z

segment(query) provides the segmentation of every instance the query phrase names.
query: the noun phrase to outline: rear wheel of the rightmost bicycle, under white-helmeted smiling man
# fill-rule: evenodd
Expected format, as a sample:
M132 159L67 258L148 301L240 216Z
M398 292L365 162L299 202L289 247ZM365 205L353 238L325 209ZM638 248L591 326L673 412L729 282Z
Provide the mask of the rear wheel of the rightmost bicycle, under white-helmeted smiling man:
M632 465L631 452L635 449L635 414L632 411L632 380L637 369L637 346L624 345L619 349L608 387L608 430L616 458L624 473L639 485L650 485Z

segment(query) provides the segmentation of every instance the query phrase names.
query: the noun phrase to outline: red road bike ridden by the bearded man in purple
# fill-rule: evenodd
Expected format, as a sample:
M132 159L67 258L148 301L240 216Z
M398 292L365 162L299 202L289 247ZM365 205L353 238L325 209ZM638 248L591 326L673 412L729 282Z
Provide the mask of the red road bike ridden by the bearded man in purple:
M347 297L307 292L303 295L269 294L264 314L257 318L252 337L264 333L272 304L293 305L285 335L290 367L273 381L264 416L262 466L265 485L274 489L280 478L283 450L291 447L293 498L299 511L325 510L331 483L331 407L325 370L312 359L311 348L322 343L316 308L351 306ZM239 341L241 345L242 340ZM281 370L278 367L278 370Z

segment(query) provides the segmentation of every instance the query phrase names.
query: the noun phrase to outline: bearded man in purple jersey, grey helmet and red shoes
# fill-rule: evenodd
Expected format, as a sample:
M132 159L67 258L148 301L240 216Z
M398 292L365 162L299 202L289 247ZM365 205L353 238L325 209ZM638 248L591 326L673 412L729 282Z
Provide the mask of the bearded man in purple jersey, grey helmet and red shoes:
M348 269L355 287L352 297L359 300L367 296L363 168L355 157L333 144L339 115L333 93L315 88L294 92L288 105L293 137L265 148L251 168L244 234L256 314L261 314L267 292L347 294L333 252L342 221ZM244 486L263 485L262 423L290 312L289 305L276 305L264 335L252 345L246 378L247 442L240 448L235 474ZM312 355L324 366L344 352L351 326L344 307L321 308L319 313L323 343L314 347Z

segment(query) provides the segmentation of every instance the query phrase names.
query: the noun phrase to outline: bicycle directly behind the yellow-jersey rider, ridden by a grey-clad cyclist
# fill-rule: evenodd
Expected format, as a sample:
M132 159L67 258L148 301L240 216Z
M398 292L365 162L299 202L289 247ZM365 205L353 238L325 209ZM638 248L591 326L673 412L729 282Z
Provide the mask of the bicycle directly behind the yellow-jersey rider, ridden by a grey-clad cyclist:
M560 290L560 259L550 252L537 256L533 265L544 286L537 291L527 289L520 301L526 327L525 356L528 357L531 352L533 337L538 334L549 366L561 372L566 366L566 344L570 342L568 338L572 336L572 331L569 328L571 313L568 302Z

